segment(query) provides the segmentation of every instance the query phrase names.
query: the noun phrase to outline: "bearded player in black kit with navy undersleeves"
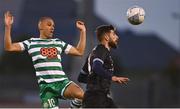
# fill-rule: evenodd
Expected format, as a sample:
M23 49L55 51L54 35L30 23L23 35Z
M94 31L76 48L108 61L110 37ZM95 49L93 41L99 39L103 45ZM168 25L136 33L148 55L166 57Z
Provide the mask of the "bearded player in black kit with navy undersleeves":
M92 50L78 76L78 81L87 83L87 90L83 98L85 108L115 108L110 97L111 81L126 83L126 77L113 75L113 60L111 48L116 48L119 38L112 25L101 25L96 29L99 44Z

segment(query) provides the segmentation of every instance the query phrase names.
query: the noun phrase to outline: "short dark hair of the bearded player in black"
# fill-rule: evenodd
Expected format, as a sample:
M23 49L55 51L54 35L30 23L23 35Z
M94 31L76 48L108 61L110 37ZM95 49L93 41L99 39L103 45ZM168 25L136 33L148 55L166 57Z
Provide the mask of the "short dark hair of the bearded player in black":
M109 33L111 30L116 30L112 25L100 25L96 28L96 36L99 41L102 41L105 33Z

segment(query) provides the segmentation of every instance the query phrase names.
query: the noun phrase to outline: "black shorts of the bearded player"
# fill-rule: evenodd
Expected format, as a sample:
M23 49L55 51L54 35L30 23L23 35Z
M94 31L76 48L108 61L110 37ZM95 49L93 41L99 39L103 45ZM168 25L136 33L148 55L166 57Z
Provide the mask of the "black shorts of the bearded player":
M84 108L117 108L107 93L102 91L86 91L83 98Z

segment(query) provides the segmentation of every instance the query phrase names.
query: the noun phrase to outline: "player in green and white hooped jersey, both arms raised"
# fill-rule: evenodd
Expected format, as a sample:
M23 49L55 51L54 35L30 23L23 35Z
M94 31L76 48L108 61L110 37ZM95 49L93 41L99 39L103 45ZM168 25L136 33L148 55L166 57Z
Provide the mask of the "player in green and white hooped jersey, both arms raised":
M36 76L40 87L40 98L44 108L57 108L58 98L82 100L84 92L74 82L70 81L63 71L61 64L61 53L82 56L86 45L86 28L82 21L76 22L80 31L80 40L76 47L53 39L54 21L50 17L42 17L39 20L39 38L31 38L23 42L13 43L11 40L11 27L13 16L10 12L5 13L5 50L23 51L27 50L32 57ZM78 100L73 104L79 104Z

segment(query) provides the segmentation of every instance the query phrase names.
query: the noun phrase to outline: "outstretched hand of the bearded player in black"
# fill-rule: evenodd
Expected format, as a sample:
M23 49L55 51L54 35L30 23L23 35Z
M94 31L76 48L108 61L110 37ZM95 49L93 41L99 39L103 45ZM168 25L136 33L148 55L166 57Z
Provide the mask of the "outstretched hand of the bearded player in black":
M120 84L127 84L127 82L129 81L129 78L112 76L112 81L120 83Z

